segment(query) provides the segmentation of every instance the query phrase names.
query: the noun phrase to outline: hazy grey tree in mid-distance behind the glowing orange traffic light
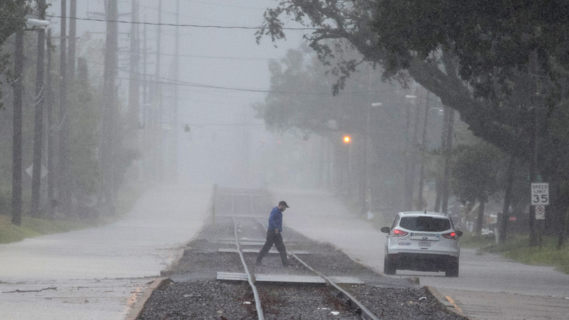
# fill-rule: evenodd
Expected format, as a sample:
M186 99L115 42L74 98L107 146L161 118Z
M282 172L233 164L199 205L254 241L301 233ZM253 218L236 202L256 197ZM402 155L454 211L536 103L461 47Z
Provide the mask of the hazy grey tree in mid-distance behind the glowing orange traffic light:
M257 117L264 118L269 129L297 129L301 134L315 133L328 138L337 148L336 152L343 154L336 158L339 162L333 166L336 177L344 177L337 180L337 186L343 190L356 188L355 185L349 188L345 178L349 171L345 168L351 167L354 178L351 180L357 182L362 209L367 208L367 202L370 206L400 208L405 198L400 192L405 184L402 178L406 153L402 146L406 141L405 132L412 131L406 126L407 120L412 122L409 127L416 127L416 117L407 116L407 111L410 107L418 110L423 101L411 106L405 98L411 92L384 83L380 72L369 65L358 68L365 72L347 79L345 90L333 96L330 86L334 76L326 72L326 66L305 47L289 50L281 60L270 61L270 93L264 103L254 107ZM381 102L381 106L372 107L376 102ZM416 114L416 110L413 113ZM354 138L350 148L340 143L343 133L350 133ZM367 134L369 143L365 140ZM411 149L416 147L415 142L410 146ZM352 149L351 165L347 163L348 149Z

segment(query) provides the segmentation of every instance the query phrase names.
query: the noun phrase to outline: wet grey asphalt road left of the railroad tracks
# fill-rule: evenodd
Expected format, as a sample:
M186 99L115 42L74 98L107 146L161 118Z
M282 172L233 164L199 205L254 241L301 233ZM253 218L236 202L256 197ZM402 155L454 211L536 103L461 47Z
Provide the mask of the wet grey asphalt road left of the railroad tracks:
M0 245L0 319L124 319L200 230L210 197L156 186L115 224Z

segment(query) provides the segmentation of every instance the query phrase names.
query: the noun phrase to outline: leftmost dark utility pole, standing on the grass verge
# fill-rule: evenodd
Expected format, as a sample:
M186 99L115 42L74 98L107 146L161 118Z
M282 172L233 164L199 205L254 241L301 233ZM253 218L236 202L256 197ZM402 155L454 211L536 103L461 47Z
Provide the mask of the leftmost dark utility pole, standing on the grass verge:
M18 17L23 19L23 1L18 1ZM22 20L23 21L23 20ZM12 224L22 224L22 95L23 95L23 23L16 32L14 50L14 114L12 118Z

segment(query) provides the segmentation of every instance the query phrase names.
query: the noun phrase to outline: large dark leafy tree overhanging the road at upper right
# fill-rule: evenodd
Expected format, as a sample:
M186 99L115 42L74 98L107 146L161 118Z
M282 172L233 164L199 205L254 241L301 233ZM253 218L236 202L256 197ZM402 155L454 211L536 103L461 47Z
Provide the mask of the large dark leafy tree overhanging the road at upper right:
M537 108L538 160L552 164L541 173L557 184L569 179L568 164L553 160L568 136L551 130L553 122L569 122L568 39L563 36L569 29L568 6L560 1L281 1L265 12L257 40L284 38L283 16L314 28L305 39L323 61L337 54L325 41L347 39L363 58L330 65L339 76L335 92L357 65L372 61L386 70L385 77L404 85L412 77L458 111L476 136L524 162L533 158L527 132ZM533 53L537 65L529 72ZM555 192L559 199L569 198L566 187ZM561 204L554 216L568 205Z

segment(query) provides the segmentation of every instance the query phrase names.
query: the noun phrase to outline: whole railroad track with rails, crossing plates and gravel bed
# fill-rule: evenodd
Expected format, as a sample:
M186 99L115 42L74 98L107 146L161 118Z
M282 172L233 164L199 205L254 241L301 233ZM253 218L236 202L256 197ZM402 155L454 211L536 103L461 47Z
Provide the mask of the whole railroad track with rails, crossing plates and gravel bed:
M426 288L382 277L287 228L294 204L283 219L292 267L281 265L275 248L256 266L276 204L271 198L263 190L218 188L200 235L186 244L137 319L463 319L441 310Z

